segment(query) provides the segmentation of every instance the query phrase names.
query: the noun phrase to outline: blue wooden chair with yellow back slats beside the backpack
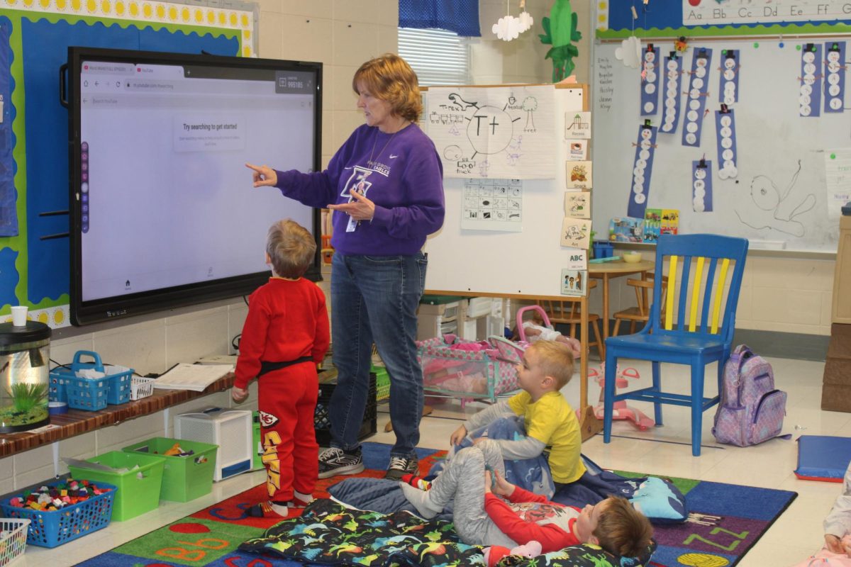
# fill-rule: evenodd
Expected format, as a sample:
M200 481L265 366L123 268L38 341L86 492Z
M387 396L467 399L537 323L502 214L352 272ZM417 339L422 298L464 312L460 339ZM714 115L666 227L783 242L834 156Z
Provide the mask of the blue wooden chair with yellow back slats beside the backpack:
M746 239L729 236L659 237L656 243L653 306L647 325L634 335L606 339L604 443L611 440L616 401L653 402L656 425L662 424L661 404L687 405L691 407L692 454L700 456L703 412L716 405L719 399L718 394L711 398L704 397L705 366L717 362L717 392L720 393L723 365L730 354L730 343L733 342L736 304L739 302L742 273L745 271L747 247ZM665 262L669 266L668 284L662 309ZM651 361L653 385L615 395L615 373L619 358ZM662 391L662 362L691 366L690 395Z

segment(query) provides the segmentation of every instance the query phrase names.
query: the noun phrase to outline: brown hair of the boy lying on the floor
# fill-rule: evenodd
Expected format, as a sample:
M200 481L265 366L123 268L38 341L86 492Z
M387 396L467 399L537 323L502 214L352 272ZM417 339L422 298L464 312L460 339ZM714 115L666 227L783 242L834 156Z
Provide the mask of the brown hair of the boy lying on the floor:
M653 526L623 496L609 496L592 535L600 547L620 557L637 557L650 545Z

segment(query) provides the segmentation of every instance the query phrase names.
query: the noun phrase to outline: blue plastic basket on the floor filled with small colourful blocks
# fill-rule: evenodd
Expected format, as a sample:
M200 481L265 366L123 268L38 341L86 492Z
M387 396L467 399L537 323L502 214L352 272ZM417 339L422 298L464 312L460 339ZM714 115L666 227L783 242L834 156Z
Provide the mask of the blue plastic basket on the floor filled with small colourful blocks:
M27 543L40 547L56 547L106 528L110 523L112 501L117 489L105 482L99 482L97 486L110 490L54 512L10 506L11 498L0 502L0 508L3 508L3 515L7 518L30 520L30 527L26 532Z

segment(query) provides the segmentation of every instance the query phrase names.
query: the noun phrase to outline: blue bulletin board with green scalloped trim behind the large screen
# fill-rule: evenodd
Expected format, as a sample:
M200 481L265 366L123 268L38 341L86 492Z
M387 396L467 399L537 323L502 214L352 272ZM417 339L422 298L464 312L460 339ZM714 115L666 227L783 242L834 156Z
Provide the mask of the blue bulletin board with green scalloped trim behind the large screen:
M0 9L0 320L21 304L58 327L69 324L68 113L59 99L68 46L251 56L256 18L250 3L24 6Z

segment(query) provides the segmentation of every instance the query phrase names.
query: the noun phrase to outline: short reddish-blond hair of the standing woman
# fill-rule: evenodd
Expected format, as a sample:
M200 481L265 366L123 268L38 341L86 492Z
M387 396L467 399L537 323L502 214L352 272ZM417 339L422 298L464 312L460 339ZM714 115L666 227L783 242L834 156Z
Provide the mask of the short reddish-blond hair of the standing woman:
M423 111L417 74L396 54L384 54L368 60L355 71L351 88L361 94L358 83L374 97L390 103L391 111L410 122L417 122Z

